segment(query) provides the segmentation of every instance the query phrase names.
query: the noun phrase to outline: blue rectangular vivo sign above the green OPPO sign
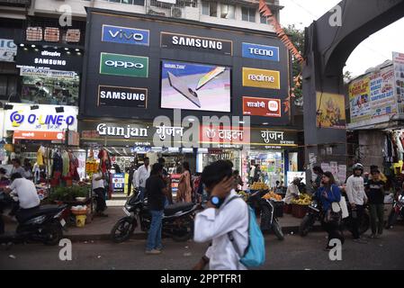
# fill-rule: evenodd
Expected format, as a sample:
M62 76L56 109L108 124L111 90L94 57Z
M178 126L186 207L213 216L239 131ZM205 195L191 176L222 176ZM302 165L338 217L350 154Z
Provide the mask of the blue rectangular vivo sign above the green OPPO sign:
M104 42L148 46L148 35L148 30L103 24Z

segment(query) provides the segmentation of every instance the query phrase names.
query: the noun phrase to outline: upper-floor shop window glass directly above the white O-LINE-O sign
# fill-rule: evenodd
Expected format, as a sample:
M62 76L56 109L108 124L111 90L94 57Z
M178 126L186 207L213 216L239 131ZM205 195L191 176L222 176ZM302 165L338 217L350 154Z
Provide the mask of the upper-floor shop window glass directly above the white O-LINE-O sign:
M22 77L22 103L78 105L79 76Z

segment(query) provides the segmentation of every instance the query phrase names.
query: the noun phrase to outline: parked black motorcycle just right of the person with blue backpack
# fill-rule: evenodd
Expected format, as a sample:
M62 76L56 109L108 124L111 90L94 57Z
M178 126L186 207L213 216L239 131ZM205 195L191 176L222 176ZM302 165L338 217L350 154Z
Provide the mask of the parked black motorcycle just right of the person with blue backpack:
M270 199L262 198L265 195L265 191L257 191L252 193L247 200L249 204L257 214L260 215L260 227L262 231L273 230L274 234L279 240L284 239L283 231L278 219L274 215L274 202Z

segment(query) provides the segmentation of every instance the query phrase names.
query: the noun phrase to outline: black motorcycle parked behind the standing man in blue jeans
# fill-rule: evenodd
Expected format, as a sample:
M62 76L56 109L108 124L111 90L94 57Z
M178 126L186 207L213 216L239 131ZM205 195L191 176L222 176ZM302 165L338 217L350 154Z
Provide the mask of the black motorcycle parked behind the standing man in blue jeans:
M194 203L175 203L164 209L162 235L173 238L175 241L186 241L193 237L193 220L195 211L199 209ZM113 242L121 243L130 238L138 227L147 232L150 228L151 214L148 211L148 200L140 200L136 193L127 200L123 207L126 216L116 222L111 230L110 237Z

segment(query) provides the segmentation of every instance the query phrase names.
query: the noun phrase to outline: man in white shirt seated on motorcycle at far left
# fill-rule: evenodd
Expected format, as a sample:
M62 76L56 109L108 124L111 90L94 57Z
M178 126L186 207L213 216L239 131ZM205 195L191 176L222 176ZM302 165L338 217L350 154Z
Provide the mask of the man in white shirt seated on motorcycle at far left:
M12 184L4 188L4 193L15 191L18 196L20 209L16 213L16 218L20 221L24 215L40 206L40 197L35 184L31 180L23 178L20 173L11 175L11 181Z

